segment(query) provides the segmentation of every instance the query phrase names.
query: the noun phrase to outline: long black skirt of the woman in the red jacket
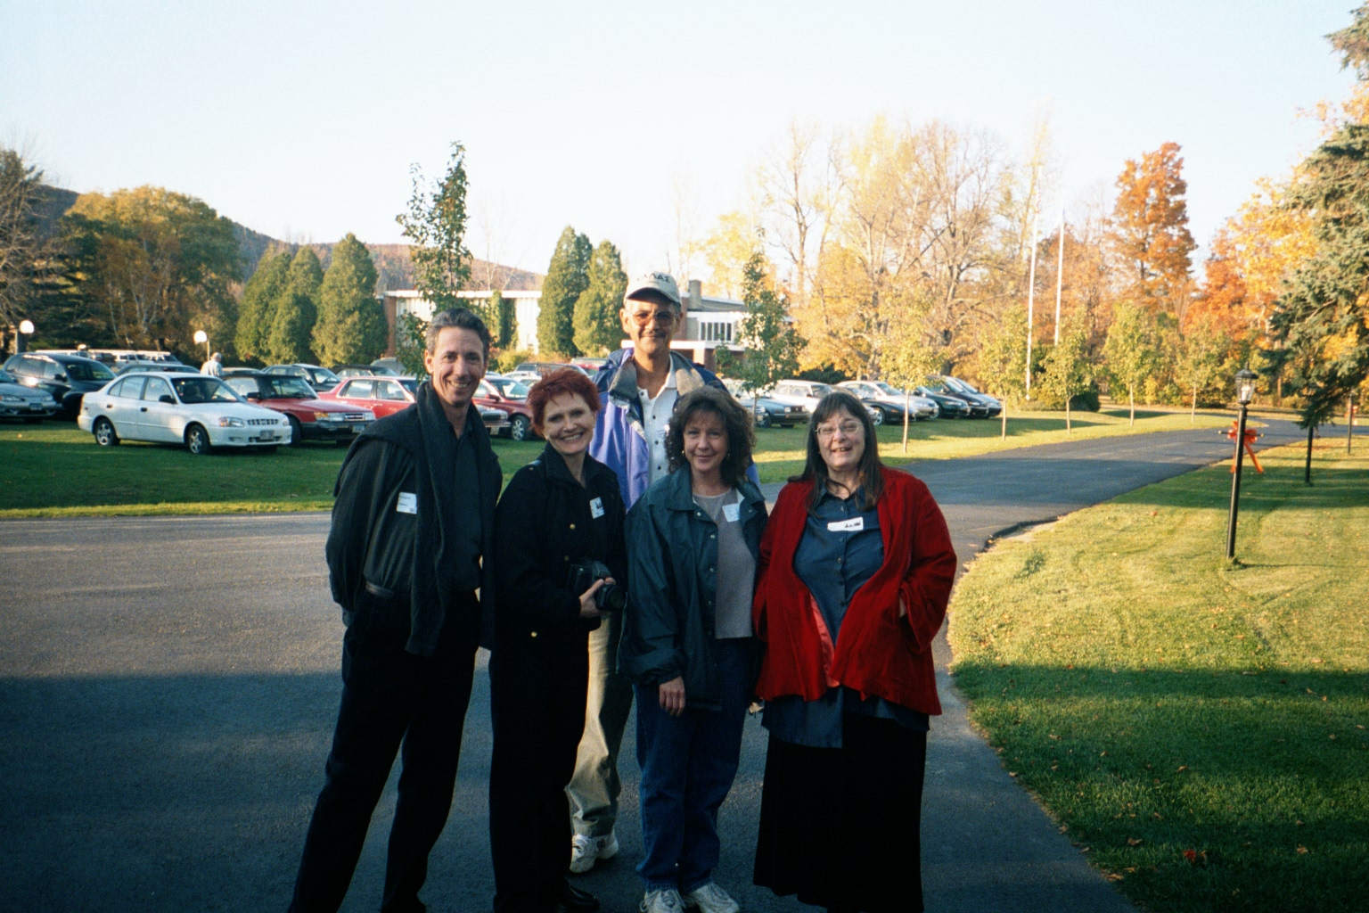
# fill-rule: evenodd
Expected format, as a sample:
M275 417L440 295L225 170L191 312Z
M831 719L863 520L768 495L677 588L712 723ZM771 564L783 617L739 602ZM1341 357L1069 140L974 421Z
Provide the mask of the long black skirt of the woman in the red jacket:
M920 913L927 732L846 715L842 741L771 736L754 882L836 910Z

